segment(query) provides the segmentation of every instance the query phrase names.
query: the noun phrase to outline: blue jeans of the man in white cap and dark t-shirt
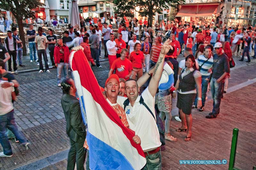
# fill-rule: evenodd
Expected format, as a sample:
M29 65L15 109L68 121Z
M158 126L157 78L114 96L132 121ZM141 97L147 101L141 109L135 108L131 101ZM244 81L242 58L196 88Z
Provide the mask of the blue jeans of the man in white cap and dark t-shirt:
M220 101L221 96L223 95L223 88L225 80L222 80L220 83L216 82L216 78L211 79L211 96L213 99L213 108L212 115L217 116L220 113Z

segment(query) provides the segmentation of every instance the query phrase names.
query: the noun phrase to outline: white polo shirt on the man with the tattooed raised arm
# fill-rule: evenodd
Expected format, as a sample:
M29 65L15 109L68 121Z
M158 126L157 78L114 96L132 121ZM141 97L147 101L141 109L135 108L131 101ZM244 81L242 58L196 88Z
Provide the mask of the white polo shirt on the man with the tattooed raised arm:
M152 97L148 87L141 94L144 102L154 114L155 118L155 97ZM126 97L117 97L117 103L124 108ZM156 120L153 118L148 109L140 104L140 96L136 99L133 107L131 103L125 108L125 114L130 129L140 137L143 151L161 146L159 131Z

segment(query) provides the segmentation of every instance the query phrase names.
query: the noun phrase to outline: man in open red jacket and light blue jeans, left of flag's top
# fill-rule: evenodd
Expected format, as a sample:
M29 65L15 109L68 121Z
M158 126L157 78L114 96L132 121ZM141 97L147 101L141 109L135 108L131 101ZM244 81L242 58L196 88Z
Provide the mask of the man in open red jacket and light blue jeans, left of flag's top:
M63 70L65 78L68 78L68 59L69 59L69 49L68 46L64 45L62 42L62 38L58 38L58 45L54 48L54 63L57 67L57 83L60 87L61 81L61 72Z

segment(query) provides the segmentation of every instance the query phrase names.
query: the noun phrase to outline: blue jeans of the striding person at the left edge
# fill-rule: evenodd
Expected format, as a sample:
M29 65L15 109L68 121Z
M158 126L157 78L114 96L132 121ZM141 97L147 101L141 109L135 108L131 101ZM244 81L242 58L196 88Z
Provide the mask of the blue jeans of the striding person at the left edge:
M6 136L7 129L10 129L15 137L22 143L26 144L28 141L20 134L13 116L14 110L0 116L0 143L3 147L5 155L12 155L12 146Z

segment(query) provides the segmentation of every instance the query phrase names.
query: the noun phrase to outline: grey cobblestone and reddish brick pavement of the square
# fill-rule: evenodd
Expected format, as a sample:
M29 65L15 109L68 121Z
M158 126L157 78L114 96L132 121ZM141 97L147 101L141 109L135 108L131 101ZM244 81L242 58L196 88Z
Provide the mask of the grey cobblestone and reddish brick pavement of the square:
M182 59L182 58L180 58ZM180 60L179 59L179 60ZM255 78L256 64L239 63L231 71L229 87ZM108 77L108 61L101 63L103 68L92 67L99 85L104 86ZM245 64L245 66L244 66ZM0 158L0 169L15 169L43 159L69 148L62 112L60 87L57 86L56 69L51 73L37 71L15 75L20 83L20 96L15 103L15 117L19 129L32 143L32 149L25 151L20 144L12 141L14 156ZM163 169L227 169L226 165L179 165L179 160L229 160L232 129L239 128L236 167L252 169L256 165L255 147L255 97L256 84L224 95L221 114L217 119L207 120L204 116L211 111L212 102L207 101L204 112L193 111L193 134L191 142L184 142L185 133L175 131L180 122L173 119L171 132L178 142L162 147ZM239 102L237 102L240 99ZM228 123L227 123L228 122ZM246 126L245 126L246 123ZM2 151L2 148L0 148ZM46 166L50 169L65 167L65 160Z

